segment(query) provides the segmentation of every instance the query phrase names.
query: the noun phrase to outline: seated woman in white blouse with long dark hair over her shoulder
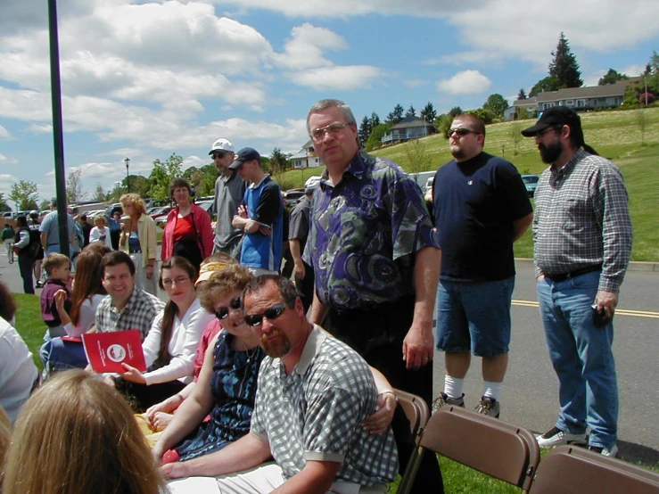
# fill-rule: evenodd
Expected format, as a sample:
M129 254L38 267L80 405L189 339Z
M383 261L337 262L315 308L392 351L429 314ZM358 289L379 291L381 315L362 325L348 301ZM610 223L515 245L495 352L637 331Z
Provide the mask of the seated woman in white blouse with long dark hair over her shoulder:
M160 285L169 301L142 343L147 371L124 364L126 372L115 382L138 412L175 395L193 380L194 354L203 329L214 317L194 292L196 278L185 258L174 256L162 263Z

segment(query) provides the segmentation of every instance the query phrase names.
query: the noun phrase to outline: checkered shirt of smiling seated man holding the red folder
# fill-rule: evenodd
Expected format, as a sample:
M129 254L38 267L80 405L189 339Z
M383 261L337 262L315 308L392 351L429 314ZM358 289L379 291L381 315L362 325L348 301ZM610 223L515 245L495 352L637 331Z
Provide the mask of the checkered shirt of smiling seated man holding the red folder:
M96 309L96 330L99 333L139 329L142 341L149 333L153 318L165 308L165 302L151 293L133 288L126 307L119 312L113 305L111 297L105 297Z

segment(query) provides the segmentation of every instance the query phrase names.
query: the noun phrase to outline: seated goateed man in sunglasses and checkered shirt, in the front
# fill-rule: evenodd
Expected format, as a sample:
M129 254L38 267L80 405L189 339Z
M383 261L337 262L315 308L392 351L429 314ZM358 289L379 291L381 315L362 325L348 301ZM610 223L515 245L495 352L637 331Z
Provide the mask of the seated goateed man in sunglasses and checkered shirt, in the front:
M216 453L163 465L170 478L222 475L218 490L214 482L200 490L197 479L187 479L172 482L174 491L386 492L398 458L391 429L372 434L362 426L376 399L366 361L307 321L295 286L283 276L252 279L243 310L268 354L251 433ZM261 465L270 457L276 463Z

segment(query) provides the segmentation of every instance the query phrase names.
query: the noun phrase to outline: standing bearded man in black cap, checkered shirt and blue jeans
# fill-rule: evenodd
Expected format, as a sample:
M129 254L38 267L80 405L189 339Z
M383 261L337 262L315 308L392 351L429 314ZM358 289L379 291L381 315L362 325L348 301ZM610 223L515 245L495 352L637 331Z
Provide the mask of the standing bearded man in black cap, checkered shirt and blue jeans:
M614 163L585 144L573 110L549 108L522 134L535 137L542 161L551 165L535 192L533 240L540 317L561 409L538 443L585 444L589 427L589 449L614 457L612 320L631 252L627 191Z

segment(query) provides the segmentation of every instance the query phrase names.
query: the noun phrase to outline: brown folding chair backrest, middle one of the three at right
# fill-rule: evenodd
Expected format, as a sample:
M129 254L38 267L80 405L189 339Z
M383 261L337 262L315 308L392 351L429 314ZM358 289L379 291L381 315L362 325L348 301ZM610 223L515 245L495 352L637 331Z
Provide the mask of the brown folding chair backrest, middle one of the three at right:
M540 462L531 432L459 407L441 408L425 426L421 447L528 491Z

